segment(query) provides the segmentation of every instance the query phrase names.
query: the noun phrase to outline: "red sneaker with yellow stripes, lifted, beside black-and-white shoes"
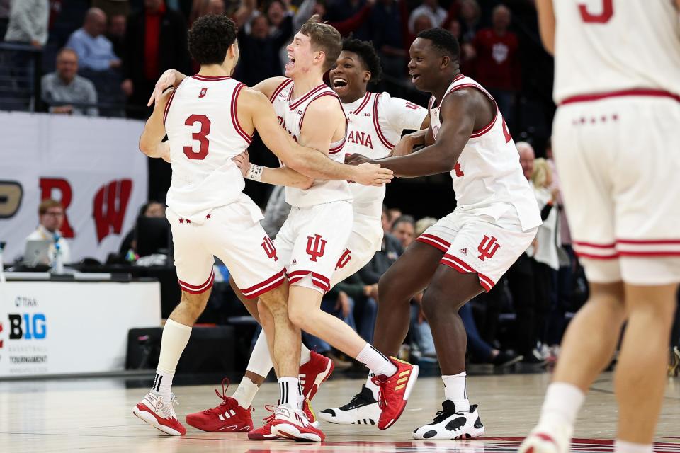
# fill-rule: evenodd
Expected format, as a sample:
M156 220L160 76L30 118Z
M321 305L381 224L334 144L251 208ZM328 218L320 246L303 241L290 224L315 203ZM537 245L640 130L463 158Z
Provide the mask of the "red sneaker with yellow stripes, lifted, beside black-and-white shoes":
M380 386L378 391L378 406L380 419L378 428L386 430L394 425L404 412L409 395L418 379L418 365L411 365L395 357L390 357L397 372L390 377L384 375L373 377L373 383Z

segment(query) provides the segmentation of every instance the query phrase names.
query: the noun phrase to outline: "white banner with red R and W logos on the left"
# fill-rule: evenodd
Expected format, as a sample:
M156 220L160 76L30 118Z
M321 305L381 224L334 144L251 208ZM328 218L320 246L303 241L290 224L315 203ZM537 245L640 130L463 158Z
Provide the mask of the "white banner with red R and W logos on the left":
M117 251L147 199L147 158L138 149L143 127L118 118L0 112L5 261L23 254L47 197L66 207L62 234L73 261Z

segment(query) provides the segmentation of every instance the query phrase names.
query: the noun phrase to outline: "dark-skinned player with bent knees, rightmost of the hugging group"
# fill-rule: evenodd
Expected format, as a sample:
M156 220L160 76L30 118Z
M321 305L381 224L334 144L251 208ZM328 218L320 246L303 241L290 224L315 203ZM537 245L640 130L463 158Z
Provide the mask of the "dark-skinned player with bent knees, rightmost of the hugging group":
M487 91L460 74L458 41L448 31L419 33L409 50L416 88L429 91L431 125L407 147L425 147L378 162L395 176L450 171L455 210L427 229L380 279L375 343L396 353L409 328L409 300L426 289L423 309L443 373L442 411L413 436L460 439L484 434L465 384L465 327L458 309L488 291L536 236L540 214L523 177L502 115ZM358 156L354 161L366 161ZM361 415L362 408L355 408Z

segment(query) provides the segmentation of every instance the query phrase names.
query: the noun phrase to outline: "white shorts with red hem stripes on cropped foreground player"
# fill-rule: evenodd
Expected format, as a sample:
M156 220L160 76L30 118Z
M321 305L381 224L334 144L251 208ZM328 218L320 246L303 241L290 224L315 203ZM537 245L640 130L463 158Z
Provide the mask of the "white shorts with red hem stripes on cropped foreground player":
M657 92L563 104L553 149L588 280L680 282L680 102Z

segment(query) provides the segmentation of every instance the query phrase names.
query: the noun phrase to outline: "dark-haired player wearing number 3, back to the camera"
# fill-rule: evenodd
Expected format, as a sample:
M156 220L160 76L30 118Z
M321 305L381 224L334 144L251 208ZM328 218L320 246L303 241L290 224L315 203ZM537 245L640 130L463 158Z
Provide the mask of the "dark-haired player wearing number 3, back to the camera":
M297 401L288 397L299 388L300 333L288 319L283 261L277 259L271 239L259 224L259 208L242 193L244 180L232 157L248 147L257 129L280 159L294 167L300 165L301 171L343 180L350 173L337 163L329 164L318 151L295 144L280 130L266 98L229 77L239 57L235 38L231 19L209 15L193 24L188 46L201 65L200 71L162 96L140 138L140 149L147 156L162 157L173 165L166 215L173 234L182 299L163 331L154 387L133 413L170 435L186 433L174 412L171 383L191 326L210 295L213 255L229 266L244 294L261 297L260 317L268 333L276 338L272 350L281 404L290 414L305 420ZM230 113L225 113L226 103ZM169 142L164 144L166 133ZM310 159L310 164L301 159L298 162L293 154ZM364 168L350 176L370 183L387 177L375 168Z

